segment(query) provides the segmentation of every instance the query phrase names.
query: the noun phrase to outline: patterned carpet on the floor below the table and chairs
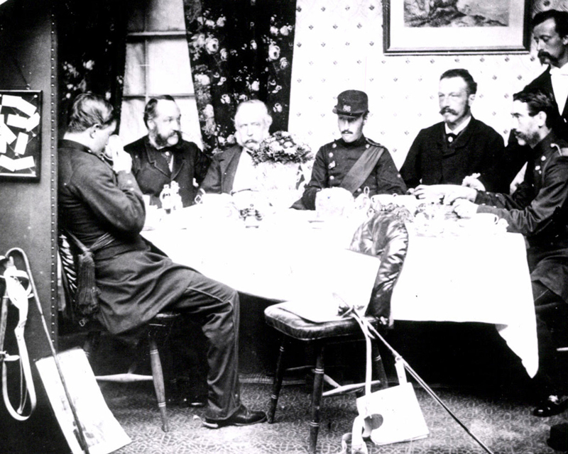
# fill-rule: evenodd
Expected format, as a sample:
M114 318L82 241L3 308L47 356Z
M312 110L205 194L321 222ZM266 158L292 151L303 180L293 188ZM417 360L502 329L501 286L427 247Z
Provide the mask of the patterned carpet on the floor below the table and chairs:
M244 402L255 409L266 408L269 384L244 384ZM422 389L416 389L418 401L430 436L420 441L373 446L370 453L484 453ZM564 421L565 416L539 419L530 415L528 404L506 397L496 398L456 389L437 389L437 394L454 414L495 454L555 453L546 440L550 426ZM116 385L104 387L104 396L116 419L132 438L132 443L117 454L271 454L305 453L309 427L310 395L305 386L283 387L276 420L250 427L227 427L217 431L204 428L198 416L202 409L169 409L171 430L159 428L159 415L154 408L150 387L136 386L128 395ZM318 437L319 453L339 453L344 433L351 430L356 416L355 397L329 397L322 404L322 425Z

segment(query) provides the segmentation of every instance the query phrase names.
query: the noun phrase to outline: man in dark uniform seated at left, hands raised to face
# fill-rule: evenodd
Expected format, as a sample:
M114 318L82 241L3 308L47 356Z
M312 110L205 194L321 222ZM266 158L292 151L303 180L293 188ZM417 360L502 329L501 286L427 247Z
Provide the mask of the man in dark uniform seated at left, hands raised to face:
M140 236L145 210L131 174L131 157L103 152L116 128L112 106L99 96L81 94L72 105L67 132L59 144L59 226L94 252L99 289L99 321L111 333L130 333L162 309L180 311L207 338L208 401L204 425L248 425L266 420L262 411L241 404L238 375L239 294L224 284L168 257L151 252Z

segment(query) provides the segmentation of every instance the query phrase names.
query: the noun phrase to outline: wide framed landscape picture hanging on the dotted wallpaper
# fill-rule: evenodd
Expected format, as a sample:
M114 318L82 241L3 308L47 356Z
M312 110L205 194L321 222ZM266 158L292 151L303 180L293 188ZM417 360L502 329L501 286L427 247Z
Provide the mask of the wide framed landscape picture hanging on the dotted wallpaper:
M383 0L386 54L530 50L530 0Z

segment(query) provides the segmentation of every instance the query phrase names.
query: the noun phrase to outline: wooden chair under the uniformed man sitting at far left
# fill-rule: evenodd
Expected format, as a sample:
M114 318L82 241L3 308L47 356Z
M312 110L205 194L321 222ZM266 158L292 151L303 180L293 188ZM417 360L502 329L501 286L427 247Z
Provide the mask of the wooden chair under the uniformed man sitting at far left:
M77 267L76 256L72 250L70 239L65 233L60 232L59 238L59 257L61 264L61 278L62 287L65 293L65 312L67 318L75 321L79 326L80 331L87 333L87 339L83 345L85 355L89 360L92 360L95 350L99 345L99 340L102 333L107 332L107 329L93 317L82 316L77 314L75 306L75 292L77 291ZM153 381L156 398L158 399L158 409L162 421L162 430L169 431L168 414L165 405L165 384L164 375L162 370L162 362L160 360L160 353L158 350L158 340L160 344L168 338L170 329L173 323L180 317L180 314L175 312L160 312L151 321L146 323L143 333L146 334L149 347L150 363L152 375L139 375L134 373L134 365L131 365L129 371L121 374L114 375L98 375L95 377L98 381L106 382L141 382Z

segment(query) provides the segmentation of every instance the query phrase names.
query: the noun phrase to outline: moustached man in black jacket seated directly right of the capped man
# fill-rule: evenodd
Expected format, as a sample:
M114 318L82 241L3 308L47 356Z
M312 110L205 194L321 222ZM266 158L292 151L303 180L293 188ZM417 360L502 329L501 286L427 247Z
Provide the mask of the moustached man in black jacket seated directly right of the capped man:
M477 84L467 70L442 74L438 100L444 121L422 129L410 147L400 168L409 188L418 184L468 184L477 179L480 189L508 191L509 182L502 182L498 170L503 138L471 116L476 92Z

